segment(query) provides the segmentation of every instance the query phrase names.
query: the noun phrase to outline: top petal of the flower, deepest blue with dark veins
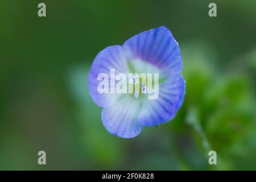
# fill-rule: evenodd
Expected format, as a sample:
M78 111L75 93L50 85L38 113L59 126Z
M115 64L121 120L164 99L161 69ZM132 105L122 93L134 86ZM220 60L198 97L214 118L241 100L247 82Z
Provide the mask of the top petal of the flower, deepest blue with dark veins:
M168 28L161 26L142 32L124 44L129 60L141 59L162 69L165 75L181 73L180 48Z

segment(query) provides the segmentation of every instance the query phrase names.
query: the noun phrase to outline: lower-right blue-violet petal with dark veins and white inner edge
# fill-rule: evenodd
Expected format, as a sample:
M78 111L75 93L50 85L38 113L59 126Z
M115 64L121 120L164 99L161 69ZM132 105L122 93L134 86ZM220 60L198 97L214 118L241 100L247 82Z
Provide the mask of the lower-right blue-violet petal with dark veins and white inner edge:
M181 75L173 75L159 85L159 97L146 100L138 115L138 122L143 126L156 126L175 117L183 103L185 81Z

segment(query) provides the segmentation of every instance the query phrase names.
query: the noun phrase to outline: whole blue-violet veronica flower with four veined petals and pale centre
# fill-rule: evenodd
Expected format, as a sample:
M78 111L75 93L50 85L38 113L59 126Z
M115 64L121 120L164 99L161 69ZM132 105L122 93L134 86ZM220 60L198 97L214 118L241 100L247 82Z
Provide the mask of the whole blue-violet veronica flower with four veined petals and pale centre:
M128 85L136 85L140 73L158 73L159 82L155 84L159 87L158 98L150 100L145 97L148 92L143 91L148 90L148 80L139 82L139 90L135 93L99 93L98 85L102 80L98 75L101 73L109 76L107 81L118 82L110 76L110 69L117 73L137 73L132 80L127 78ZM143 126L158 126L174 118L185 94L181 70L179 46L164 26L135 35L123 46L103 49L93 61L88 81L90 96L104 108L101 118L106 130L121 138L133 138ZM105 86L113 88L113 84Z

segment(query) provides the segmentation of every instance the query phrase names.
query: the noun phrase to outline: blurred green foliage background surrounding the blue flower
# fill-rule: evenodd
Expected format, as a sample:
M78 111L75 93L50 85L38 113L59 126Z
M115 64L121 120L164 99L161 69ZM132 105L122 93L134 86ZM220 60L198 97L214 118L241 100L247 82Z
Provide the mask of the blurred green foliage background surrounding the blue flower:
M255 170L255 19L255 0L1 0L0 169ZM161 25L180 45L184 104L173 121L117 138L89 96L90 65Z

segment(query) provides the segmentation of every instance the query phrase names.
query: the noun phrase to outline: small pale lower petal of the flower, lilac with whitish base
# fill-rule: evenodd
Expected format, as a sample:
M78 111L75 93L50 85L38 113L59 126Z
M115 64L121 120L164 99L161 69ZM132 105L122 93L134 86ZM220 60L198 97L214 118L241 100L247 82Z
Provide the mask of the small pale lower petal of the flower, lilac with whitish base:
M138 123L139 103L129 95L119 98L113 106L102 110L102 123L109 133L121 138L133 138L141 133Z

